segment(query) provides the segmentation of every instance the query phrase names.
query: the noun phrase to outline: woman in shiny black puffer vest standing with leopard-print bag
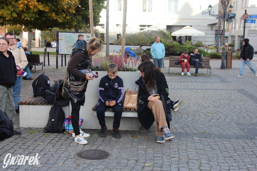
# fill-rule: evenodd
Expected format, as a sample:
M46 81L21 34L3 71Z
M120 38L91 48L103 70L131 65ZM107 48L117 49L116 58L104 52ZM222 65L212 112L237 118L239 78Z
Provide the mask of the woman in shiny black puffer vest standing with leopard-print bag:
M78 121L80 106L84 106L85 103L88 80L94 79L94 77L83 74L79 70L90 69L91 56L98 54L102 50L103 42L96 37L89 39L88 43L85 40L81 40L74 44L68 62L67 72L63 82L62 96L71 102L71 120L73 121L71 123L74 131L72 136L75 137L74 141L78 144L87 144L84 137L89 137L89 134L79 129ZM84 82L80 91L74 91L71 88L71 82L73 81Z

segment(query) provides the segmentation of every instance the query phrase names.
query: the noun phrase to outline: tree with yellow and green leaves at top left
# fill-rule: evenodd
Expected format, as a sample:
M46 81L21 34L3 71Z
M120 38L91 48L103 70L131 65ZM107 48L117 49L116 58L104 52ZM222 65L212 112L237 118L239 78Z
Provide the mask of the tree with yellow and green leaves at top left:
M94 25L100 21L105 0L93 0ZM31 41L32 29L81 29L89 25L88 0L6 0L0 1L0 25L23 25ZM31 43L28 42L30 45Z

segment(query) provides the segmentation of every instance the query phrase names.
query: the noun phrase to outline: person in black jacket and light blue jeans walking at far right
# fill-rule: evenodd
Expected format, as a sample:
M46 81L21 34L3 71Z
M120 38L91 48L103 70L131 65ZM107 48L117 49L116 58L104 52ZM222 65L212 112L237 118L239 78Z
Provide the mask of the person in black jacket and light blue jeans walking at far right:
M243 77L244 67L247 65L250 70L254 73L255 77L257 77L257 72L253 68L252 65L252 59L253 59L253 46L249 44L249 39L243 39L243 46L240 53L240 69L239 69L239 75L236 77Z

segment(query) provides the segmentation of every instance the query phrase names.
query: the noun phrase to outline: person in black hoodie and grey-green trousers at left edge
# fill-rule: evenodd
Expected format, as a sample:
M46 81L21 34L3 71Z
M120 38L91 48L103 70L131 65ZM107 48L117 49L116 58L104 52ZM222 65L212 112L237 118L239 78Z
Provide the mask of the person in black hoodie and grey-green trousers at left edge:
M12 120L15 113L13 88L17 79L17 69L12 52L7 51L9 39L0 37L0 109ZM14 135L21 132L14 131Z

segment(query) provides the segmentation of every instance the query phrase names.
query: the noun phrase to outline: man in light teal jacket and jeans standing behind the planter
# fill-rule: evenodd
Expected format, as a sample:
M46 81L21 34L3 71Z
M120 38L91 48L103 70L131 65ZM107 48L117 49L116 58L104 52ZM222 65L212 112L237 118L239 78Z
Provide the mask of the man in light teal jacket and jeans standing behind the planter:
M162 68L162 60L165 55L165 48L162 43L160 43L160 37L155 37L155 42L151 46L151 55L153 57L153 63L156 68Z

